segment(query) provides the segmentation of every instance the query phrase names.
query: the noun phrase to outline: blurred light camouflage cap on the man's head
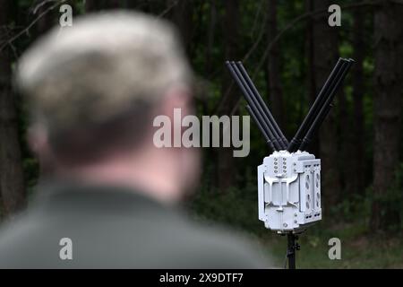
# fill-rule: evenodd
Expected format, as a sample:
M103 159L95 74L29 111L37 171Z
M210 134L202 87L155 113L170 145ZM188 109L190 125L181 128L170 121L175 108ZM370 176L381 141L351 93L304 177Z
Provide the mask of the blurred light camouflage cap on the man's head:
M55 28L17 66L17 87L49 129L107 121L175 85L191 68L171 24L134 12L82 16Z

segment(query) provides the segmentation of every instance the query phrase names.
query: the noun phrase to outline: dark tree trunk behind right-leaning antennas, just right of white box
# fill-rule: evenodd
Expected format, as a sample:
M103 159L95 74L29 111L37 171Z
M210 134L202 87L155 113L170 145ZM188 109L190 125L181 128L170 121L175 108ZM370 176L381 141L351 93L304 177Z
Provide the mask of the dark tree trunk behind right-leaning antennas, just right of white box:
M313 0L313 10L327 9L329 0ZM330 74L330 69L336 64L339 57L338 28L330 27L328 14L318 14L313 17L313 68L315 74L315 94L317 95ZM333 108L334 109L334 108ZM338 169L338 145L336 111L331 110L321 126L320 155L322 159L322 193L325 206L330 207L339 200L340 179Z

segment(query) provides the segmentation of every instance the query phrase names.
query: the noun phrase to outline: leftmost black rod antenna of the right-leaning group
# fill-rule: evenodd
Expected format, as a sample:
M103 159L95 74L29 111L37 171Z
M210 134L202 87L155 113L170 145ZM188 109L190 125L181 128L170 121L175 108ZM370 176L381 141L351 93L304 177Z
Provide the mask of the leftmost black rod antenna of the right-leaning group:
M308 114L306 117L304 117L304 121L299 126L298 130L296 131L296 135L293 137L291 142L287 146L287 151L288 152L296 152L298 146L302 143L302 139L304 134L307 132L309 129L309 126L311 126L313 122L313 118L315 117L315 114L318 113L320 109L322 109L322 105L324 100L326 100L327 96L329 95L329 91L333 83L337 80L337 74L339 73L340 68L344 63L346 63L346 59L339 58L338 62L334 66L333 70L331 71L328 79L326 82L323 84L322 90L319 92L318 96L316 97L316 100L313 102L313 105L311 109L309 109Z

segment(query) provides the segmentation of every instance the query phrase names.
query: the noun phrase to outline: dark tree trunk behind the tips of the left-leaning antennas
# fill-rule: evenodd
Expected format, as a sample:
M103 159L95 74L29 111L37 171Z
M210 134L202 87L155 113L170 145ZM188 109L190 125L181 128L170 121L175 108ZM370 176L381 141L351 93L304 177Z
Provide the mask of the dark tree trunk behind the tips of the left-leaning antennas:
M238 39L238 25L239 22L239 3L237 0L225 1L226 13L222 22L222 29L224 34L224 55L227 60L236 60L237 47L239 43ZM224 65L224 63L223 63ZM224 102L220 105L219 115L231 116L236 102L239 100L240 94L232 86L230 89L232 80L227 73L227 70L223 74L222 95L225 98ZM228 91L230 89L230 91ZM235 181L235 164L234 157L231 148L220 148L218 151L218 186L220 191L227 190L228 187L234 185Z

